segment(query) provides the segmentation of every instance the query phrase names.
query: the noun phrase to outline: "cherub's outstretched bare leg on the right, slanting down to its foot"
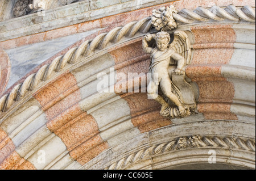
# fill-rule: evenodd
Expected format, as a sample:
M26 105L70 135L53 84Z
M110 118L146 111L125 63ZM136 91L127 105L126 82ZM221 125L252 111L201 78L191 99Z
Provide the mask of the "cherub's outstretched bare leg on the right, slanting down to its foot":
M182 106L177 96L171 91L171 79L169 77L162 78L160 81L160 87L163 91L163 94L166 95L179 108L180 114L184 115L186 112L185 108Z

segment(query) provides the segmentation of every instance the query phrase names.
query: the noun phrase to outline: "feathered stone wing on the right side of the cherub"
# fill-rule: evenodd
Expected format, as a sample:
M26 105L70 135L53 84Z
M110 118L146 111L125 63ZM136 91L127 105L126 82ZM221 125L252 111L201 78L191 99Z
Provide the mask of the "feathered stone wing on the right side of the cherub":
M184 31L177 30L174 32L174 41L172 41L171 47L175 50L175 52L179 53L185 58L186 65L190 64L191 44L188 35ZM176 61L175 64L177 64Z

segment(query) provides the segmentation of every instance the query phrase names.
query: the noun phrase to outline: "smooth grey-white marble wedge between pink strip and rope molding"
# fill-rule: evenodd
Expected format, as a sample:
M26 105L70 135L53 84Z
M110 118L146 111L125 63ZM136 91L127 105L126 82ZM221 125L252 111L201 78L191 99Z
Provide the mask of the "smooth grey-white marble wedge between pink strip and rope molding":
M7 54L10 57L11 65L11 72L10 72L10 81L6 87L8 89L11 87L16 81L22 78L24 75L29 73L30 70L36 68L36 66L42 64L44 61L48 60L56 53L60 52L61 50L69 47L70 45L76 43L77 41L83 39L86 36L98 31L87 31L82 33L76 33L69 36L59 37L53 36L51 32L47 32L46 35L43 37L44 40L40 43L33 43L29 45L22 44L17 45L16 48L11 48L6 50ZM68 32L68 30L67 30ZM70 32L70 31L69 31ZM63 32L61 32L63 33ZM57 31L55 34L60 35L60 32ZM38 41L38 37L34 37ZM25 43L24 41L32 41L32 40L23 40L20 43ZM29 54L27 52L30 51Z

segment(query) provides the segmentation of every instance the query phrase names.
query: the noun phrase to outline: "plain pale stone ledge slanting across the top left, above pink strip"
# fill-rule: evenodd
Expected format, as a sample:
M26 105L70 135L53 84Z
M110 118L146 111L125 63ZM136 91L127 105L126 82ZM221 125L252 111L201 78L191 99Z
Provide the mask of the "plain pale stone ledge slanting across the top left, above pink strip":
M164 0L160 3L168 3L173 0ZM110 3L110 4L109 4ZM79 5L79 7L77 6ZM145 7L159 5L157 1L81 1L72 3L71 5L63 6L56 10L49 10L47 15L41 13L34 13L20 18L13 19L15 23L0 22L0 40L13 39L20 36L31 35L31 33L39 33L44 31L53 30L71 26L73 24L83 23L88 20L96 20L129 12L133 10L143 9ZM14 26L15 24L15 26ZM14 30L15 29L15 30ZM32 32L31 32L32 30ZM8 32L7 32L8 31ZM3 36L3 34L5 36Z

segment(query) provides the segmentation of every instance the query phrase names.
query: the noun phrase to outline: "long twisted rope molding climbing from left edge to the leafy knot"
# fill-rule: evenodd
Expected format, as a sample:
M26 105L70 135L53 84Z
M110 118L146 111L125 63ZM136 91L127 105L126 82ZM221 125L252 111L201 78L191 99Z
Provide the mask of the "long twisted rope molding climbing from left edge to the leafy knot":
M41 82L47 81L53 72L59 72L66 66L76 64L80 56L90 56L97 49L104 49L109 43L117 43L124 36L133 37L138 31L146 33L152 24L150 17L117 27L108 33L102 33L92 41L85 41L79 47L70 49L63 56L56 57L51 64L42 66L38 72L29 75L23 83L16 85L9 94L0 98L0 111L7 111L15 102L24 98L28 91L35 90Z

